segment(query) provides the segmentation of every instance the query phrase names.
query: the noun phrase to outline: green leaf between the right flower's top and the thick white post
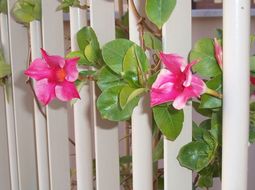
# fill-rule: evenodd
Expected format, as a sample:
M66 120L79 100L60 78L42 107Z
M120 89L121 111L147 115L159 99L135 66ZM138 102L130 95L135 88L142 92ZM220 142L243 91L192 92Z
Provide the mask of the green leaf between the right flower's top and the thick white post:
M199 63L192 67L202 77L214 77L221 74L221 69L214 56L214 43L212 39L204 38L195 44L191 50L189 60L201 59Z

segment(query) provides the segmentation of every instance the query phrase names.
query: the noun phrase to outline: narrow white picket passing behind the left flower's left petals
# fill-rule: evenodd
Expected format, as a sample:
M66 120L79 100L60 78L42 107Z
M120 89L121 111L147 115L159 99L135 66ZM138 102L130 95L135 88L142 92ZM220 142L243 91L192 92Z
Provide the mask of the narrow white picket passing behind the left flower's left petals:
M40 48L42 47L42 35L40 21L33 21L30 23L30 43L32 60L41 57ZM49 190L50 175L47 142L47 121L46 117L44 117L40 112L35 100L34 100L34 122L36 135L35 139L36 139L39 189Z

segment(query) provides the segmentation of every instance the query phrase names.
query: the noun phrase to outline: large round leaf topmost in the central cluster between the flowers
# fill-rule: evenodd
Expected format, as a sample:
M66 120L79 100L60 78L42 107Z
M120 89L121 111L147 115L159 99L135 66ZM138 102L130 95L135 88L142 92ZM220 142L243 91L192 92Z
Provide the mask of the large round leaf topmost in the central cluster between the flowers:
M120 75L128 71L137 73L139 69L145 73L149 68L144 51L129 40L117 39L107 43L102 49L102 55L106 65Z

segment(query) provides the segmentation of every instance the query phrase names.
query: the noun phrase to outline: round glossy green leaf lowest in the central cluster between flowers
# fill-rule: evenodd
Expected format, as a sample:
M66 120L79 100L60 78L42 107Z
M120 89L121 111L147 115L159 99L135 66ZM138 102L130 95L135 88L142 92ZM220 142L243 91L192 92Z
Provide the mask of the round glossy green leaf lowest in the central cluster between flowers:
M119 94L125 85L118 85L107 88L97 100L97 108L104 119L111 121L123 121L131 117L133 109L137 106L139 97L133 99L124 109L119 103Z

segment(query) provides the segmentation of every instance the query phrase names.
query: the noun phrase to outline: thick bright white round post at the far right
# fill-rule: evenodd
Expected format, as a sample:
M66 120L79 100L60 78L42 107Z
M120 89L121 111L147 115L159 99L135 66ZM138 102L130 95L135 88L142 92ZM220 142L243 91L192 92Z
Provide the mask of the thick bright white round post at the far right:
M247 189L250 1L223 2L222 189ZM233 108L234 103L234 108Z

